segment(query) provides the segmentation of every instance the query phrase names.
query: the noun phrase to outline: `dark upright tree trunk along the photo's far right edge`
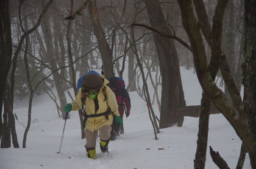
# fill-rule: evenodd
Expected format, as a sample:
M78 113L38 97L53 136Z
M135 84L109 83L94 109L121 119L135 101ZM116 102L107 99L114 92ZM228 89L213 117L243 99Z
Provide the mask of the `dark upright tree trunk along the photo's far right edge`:
M256 136L256 1L244 1L244 78L247 79L247 84L244 84L244 92L247 93L246 115L251 132ZM247 92L246 92L247 91ZM256 168L256 148L254 151L251 147L246 145L252 168ZM256 141L254 142L256 147Z

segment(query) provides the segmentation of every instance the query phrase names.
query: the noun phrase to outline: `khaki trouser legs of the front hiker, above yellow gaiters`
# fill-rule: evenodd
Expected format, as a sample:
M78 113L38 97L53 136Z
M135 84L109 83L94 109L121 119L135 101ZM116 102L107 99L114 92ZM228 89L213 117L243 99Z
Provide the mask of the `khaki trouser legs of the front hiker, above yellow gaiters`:
M108 140L110 139L110 131L112 129L111 125L104 125L99 129L99 138L101 140ZM85 136L86 136L86 147L96 147L96 138L97 138L98 131L91 132L88 129L85 129Z

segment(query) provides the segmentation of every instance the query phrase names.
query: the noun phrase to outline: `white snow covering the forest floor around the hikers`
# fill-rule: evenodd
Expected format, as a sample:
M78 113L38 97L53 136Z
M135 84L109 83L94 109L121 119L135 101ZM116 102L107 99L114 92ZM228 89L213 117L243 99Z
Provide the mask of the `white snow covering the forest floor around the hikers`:
M199 105L202 90L193 71L181 69L183 90L187 105ZM127 79L125 79L127 81ZM159 90L160 91L160 90ZM72 92L72 90L71 90ZM152 92L153 93L153 92ZM159 92L161 93L161 92ZM124 117L124 134L111 141L108 149L110 156L102 156L97 140L98 159L88 159L85 153L85 139L81 139L80 121L77 112L71 112L67 120L60 148L64 120L57 115L54 102L48 95L34 97L32 124L27 135L27 148L0 149L1 169L82 169L82 168L194 168L198 118L185 117L182 127L160 129L155 140L154 131L149 120L146 103L137 92L129 92L132 109L130 117ZM68 97L68 102L71 99ZM16 131L22 147L24 126L27 125L27 98L15 102L18 116ZM159 117L156 102L155 114ZM241 140L222 114L210 116L208 146L219 151L230 168L235 168L240 154ZM207 149L205 168L218 168ZM251 168L246 156L244 168Z

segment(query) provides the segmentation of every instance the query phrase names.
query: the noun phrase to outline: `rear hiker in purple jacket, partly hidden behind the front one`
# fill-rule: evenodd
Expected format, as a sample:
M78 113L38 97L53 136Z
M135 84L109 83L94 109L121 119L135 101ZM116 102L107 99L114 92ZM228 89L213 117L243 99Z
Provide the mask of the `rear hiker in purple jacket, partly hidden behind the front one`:
M126 118L130 115L130 97L127 90L124 88L124 81L118 77L110 77L108 79L109 83L107 84L116 95L116 101L118 103L118 111L123 122L124 112ZM111 131L111 140L115 140L116 136L124 133L124 125L121 128L115 126L113 122L112 131Z

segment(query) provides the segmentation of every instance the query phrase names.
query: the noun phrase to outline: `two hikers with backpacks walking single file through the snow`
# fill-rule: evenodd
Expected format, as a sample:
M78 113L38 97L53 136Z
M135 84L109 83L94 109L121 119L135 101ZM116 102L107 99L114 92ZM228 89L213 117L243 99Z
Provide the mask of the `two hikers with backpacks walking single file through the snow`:
M96 159L96 139L99 131L102 153L108 153L108 143L124 133L123 116L130 115L130 97L123 79L104 78L90 71L82 75L77 83L78 94L72 103L65 106L65 112L82 109L87 156Z

